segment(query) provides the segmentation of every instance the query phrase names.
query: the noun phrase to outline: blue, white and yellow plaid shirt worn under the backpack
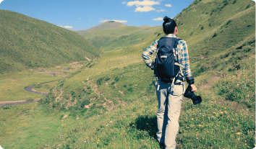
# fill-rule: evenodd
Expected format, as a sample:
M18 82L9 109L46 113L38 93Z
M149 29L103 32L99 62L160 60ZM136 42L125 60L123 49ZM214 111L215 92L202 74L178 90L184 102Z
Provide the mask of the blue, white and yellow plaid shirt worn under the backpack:
M166 37L176 37L176 35L173 34L168 34ZM153 55L153 53L156 52L156 49L158 48L158 41L155 40L150 47L148 47L143 53L142 53L142 58L145 61L146 65L148 67L152 67L153 61L150 58L150 55ZM182 69L184 76L192 76L192 73L190 71L190 66L189 66L189 53L187 50L187 43L184 40L179 40L179 44L177 46L178 52L179 52L179 63L181 63L184 68Z

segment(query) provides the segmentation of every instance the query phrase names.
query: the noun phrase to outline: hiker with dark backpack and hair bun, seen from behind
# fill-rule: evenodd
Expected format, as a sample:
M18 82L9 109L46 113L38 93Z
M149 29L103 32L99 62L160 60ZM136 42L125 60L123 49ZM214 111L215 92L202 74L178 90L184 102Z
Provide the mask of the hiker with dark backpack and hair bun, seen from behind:
M166 37L153 42L153 45L142 53L142 58L146 65L154 70L156 77L157 139L160 145L165 145L166 149L169 149L176 148L175 138L179 132L184 76L192 91L197 91L197 88L189 67L187 43L176 37L178 27L174 19L164 17L163 20L163 32L166 33ZM150 58L153 53L157 53L155 62Z

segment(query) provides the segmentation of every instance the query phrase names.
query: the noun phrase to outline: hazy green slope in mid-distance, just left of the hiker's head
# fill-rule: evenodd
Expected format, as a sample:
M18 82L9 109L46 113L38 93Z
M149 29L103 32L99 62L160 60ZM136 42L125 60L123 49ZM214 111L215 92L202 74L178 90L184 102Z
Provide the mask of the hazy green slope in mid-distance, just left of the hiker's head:
M158 30L161 30L161 26L147 28L129 26L110 30L97 30L89 32L82 37L85 37L86 40L101 48L101 50L108 51L136 45Z

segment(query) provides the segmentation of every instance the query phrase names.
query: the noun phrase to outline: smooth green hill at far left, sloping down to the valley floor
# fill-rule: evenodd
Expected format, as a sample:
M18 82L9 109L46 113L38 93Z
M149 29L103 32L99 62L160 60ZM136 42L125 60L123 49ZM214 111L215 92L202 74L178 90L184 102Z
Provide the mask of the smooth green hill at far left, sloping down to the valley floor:
M0 72L93 59L101 50L77 33L17 12L0 10Z

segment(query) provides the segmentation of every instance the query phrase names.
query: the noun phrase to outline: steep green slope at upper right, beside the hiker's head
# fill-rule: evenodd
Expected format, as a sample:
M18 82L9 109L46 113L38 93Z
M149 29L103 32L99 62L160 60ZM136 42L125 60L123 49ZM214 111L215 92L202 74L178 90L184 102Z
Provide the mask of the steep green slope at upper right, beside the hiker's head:
M198 60L221 53L256 31L255 1L194 1L176 18L179 37ZM194 60L194 59L193 59Z

